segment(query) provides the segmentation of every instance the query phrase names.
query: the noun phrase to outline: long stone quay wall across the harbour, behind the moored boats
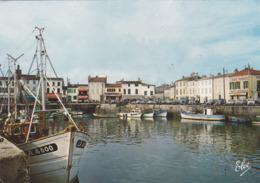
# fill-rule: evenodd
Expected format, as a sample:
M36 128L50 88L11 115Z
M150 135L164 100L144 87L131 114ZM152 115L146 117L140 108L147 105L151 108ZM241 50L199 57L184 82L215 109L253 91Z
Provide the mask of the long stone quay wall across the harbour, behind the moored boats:
M168 110L169 117L180 117L180 111L190 111L202 113L205 106L203 105L156 105L155 108ZM129 112L131 109L153 109L153 104L128 104L117 106L116 104L97 105L95 112L100 114L117 114L119 112ZM260 115L260 106L214 106L215 114L224 114L227 116L248 116L254 117Z

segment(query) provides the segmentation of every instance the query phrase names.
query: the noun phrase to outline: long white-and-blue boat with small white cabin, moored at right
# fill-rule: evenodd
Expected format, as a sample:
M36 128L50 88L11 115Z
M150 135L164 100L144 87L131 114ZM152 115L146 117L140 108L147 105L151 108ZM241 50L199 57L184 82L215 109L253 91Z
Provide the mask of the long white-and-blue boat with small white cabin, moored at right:
M208 120L208 121L224 121L226 120L225 115L215 115L213 114L213 109L205 108L203 114L190 113L185 111L180 111L181 118L184 119L194 119L194 120Z

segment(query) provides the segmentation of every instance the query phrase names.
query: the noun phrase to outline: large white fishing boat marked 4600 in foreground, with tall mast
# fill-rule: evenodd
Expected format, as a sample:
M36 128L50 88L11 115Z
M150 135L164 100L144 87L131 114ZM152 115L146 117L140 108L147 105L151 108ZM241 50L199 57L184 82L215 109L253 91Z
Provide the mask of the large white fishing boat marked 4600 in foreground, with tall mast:
M36 94L36 96L38 96L41 88L41 101L34 96L35 103L30 121L26 121L25 123L14 123L8 118L1 130L1 134L7 137L7 139L16 144L27 154L30 165L31 182L69 183L77 179L80 160L86 148L89 134L77 126L68 110L61 102L60 97L48 81L43 64L43 61L50 62L45 48L44 39L42 37L44 29L38 27L36 27L35 30L36 29L39 30L39 35L36 36L38 44L33 61L35 59L41 61L41 68L38 69L38 71L40 71L39 83L41 83L41 86L38 86ZM39 49L38 46L40 47ZM38 58L39 56L40 59ZM68 116L69 122L71 123L71 125L67 126L64 131L52 135L48 135L45 127L46 84L50 86L51 91L57 97L65 115ZM37 103L40 103L42 106L42 124L34 122L34 113Z

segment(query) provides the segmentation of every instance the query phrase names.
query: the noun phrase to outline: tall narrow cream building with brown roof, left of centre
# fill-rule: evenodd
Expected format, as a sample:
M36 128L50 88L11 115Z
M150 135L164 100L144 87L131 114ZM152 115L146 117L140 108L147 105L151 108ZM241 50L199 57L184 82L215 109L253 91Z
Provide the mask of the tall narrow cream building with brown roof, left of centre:
M89 100L92 102L103 102L107 84L107 77L88 77Z

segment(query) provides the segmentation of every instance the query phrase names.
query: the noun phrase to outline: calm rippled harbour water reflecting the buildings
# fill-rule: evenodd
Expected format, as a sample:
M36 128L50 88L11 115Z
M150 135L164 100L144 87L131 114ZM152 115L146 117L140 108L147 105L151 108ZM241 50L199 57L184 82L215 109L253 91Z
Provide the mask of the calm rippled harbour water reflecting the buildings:
M80 183L260 182L260 126L165 118L82 124L91 139Z

